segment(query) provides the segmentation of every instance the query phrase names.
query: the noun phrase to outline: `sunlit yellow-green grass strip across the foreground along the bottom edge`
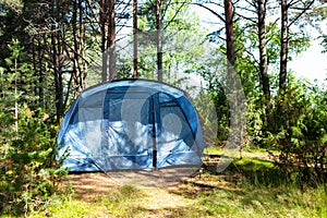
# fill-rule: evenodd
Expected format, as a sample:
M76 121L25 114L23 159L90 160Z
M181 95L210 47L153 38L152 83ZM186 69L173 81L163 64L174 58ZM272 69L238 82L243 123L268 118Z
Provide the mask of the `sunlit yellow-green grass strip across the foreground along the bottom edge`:
M51 217L327 217L327 195L322 186L300 191L295 187L245 186L219 189L185 183L170 195L191 203L183 207L149 209L144 201L147 190L133 189L132 195L123 190L107 194L93 203L69 199L52 204L47 211ZM153 189L153 192L158 190ZM141 195L140 195L141 194ZM160 197L160 195L158 195ZM154 198L153 201L156 201ZM46 217L33 214L31 217Z

